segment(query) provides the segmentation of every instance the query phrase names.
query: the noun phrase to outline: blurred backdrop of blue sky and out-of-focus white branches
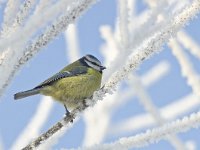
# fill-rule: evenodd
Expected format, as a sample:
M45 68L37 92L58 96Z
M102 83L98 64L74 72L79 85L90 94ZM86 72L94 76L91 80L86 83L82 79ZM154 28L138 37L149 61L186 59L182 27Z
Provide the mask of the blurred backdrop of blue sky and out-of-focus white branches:
M37 17L31 18L36 8L43 5L42 9L38 9L39 13L35 13L35 16L42 16L58 1L43 0L42 3L42 0L32 0L30 2L32 5L27 16L22 19L21 24L16 23L18 25L16 27L12 26L12 23L17 12L23 8L24 2L22 0L0 1L2 26L0 93L3 93L0 97L0 149L25 147L58 122L65 113L61 104L53 102L48 97L38 95L14 101L13 94L35 87L85 54L92 54L105 64L107 70L104 72L103 83L106 83L111 74L125 64L128 56L139 53L135 50L148 45L148 39L165 30L165 27L173 21L173 17L181 14L193 2L200 3L198 0L100 0L89 9L85 9L86 11L80 17L77 14L75 25L68 26L65 32L61 32L47 46L42 47L35 57L20 69L17 68L14 77L8 78L12 70L15 70L13 66L17 64L20 57L23 57L23 52L20 50L34 42L32 40L43 33L46 26L51 25L59 16L67 14L70 10L64 9L64 6L63 10L55 9L57 14L42 24ZM73 2L63 0L62 3L70 7ZM199 7L200 4L198 9ZM47 14L44 13L44 18L47 17L45 15ZM30 22L33 23L33 28L27 25ZM38 27L34 34L28 35L27 41L23 37L27 31L24 30L26 25L31 31ZM9 30L7 27L13 29ZM97 102L94 108L89 108L82 113L84 115L81 115L70 129L59 138L55 137L54 142L49 142L51 148L78 148L110 143L198 112L200 106L199 29L199 15L195 15L187 22L184 29L181 27L174 29L179 31L177 38L164 42L164 46L159 48L162 51L144 60L134 72L131 71L129 76L118 84L113 95L104 97L103 101ZM168 39L172 36L176 37L176 32L171 33ZM9 85L4 86L3 81ZM196 120L200 122L199 118ZM192 126L189 125L190 127ZM151 144L143 142L141 149L200 149L199 132L199 128L191 128L162 140L152 140ZM132 147L134 148L134 146L129 148Z

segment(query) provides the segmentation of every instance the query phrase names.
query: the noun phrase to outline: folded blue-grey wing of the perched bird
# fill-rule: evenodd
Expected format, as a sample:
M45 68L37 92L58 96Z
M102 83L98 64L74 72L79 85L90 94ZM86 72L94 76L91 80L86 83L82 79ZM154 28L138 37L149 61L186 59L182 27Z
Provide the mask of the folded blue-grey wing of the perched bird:
M51 85L55 81L62 79L62 78L77 76L77 75L81 75L81 74L85 74L85 73L87 73L87 68L85 68L85 67L76 67L70 71L59 72L59 73L55 74L54 76L50 77L49 79L45 80L38 86L36 86L35 89L41 88L41 87L44 87L47 85Z

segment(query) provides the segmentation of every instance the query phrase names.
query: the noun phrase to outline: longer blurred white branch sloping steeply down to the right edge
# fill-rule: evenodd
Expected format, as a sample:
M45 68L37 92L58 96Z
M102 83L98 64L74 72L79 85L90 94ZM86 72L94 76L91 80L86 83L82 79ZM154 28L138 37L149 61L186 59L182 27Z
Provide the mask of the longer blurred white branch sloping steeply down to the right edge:
M191 86L193 92L200 97L200 78L194 70L193 65L190 63L186 53L181 49L175 39L170 40L169 46L181 66L183 77L186 77L188 85Z

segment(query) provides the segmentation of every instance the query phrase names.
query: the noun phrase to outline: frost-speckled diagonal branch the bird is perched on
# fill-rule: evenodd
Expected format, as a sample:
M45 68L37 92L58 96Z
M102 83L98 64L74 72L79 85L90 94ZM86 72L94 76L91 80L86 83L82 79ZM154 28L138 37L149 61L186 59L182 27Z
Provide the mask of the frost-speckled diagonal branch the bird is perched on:
M194 0L189 7L186 7L178 16L172 18L171 23L168 24L166 27L163 27L162 31L160 31L157 35L154 35L154 37L152 37L150 41L146 42L143 45L142 49L138 49L139 51L137 51L137 53L135 53L135 55L133 55L131 59L127 60L126 65L123 68L119 69L118 72L114 73L103 88L94 93L92 99L86 100L86 106L91 106L97 100L102 100L106 93L112 94L116 85L122 79L124 79L130 71L138 67L144 59L147 59L156 52L158 52L159 48L161 48L161 46L168 41L172 33L177 33L177 31L181 27L183 27L190 19L192 19L199 12L199 9L200 0ZM32 149L39 146L41 142L53 136L56 132L62 129L63 126L65 126L71 120L73 120L73 118L75 118L80 112L85 110L86 106L78 106L70 113L69 116L64 117L60 122L58 122L55 126L49 129L46 133L43 133L40 137L38 137L35 141L30 143L24 149ZM192 122L192 125L190 124L191 126L188 127L193 127L195 125L194 123L195 122Z

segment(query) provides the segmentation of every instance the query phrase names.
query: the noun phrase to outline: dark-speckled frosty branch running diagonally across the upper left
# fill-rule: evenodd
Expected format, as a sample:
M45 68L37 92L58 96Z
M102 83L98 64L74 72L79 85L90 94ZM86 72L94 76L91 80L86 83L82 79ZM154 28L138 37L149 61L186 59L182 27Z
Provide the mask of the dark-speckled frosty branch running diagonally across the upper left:
M0 71L0 95L2 95L4 89L8 86L17 70L25 64L30 58L32 58L42 47L46 46L52 39L54 39L59 33L67 28L67 26L74 22L83 12L85 12L95 0L82 0L73 8L71 8L64 16L58 18L50 27L47 27L45 32L38 36L31 45L26 47L25 50L20 51L15 55L15 60L12 59L12 65L9 65L9 69L6 67L6 71Z

